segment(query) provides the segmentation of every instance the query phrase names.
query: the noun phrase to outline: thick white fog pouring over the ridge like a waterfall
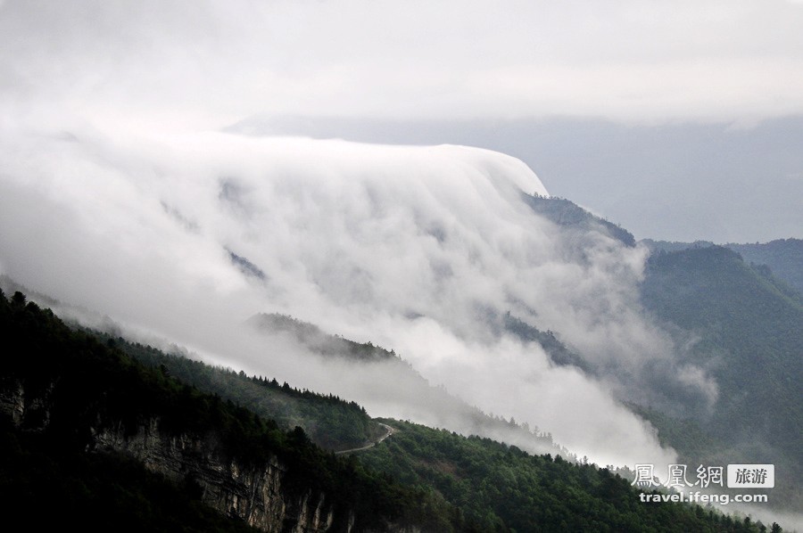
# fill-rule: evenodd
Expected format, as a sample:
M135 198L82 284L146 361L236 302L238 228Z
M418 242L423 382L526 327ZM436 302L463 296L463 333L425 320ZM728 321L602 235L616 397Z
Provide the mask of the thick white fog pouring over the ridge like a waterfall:
M389 405L377 383L395 378L378 367L319 364L242 326L295 316L393 349L432 385L600 464L674 457L617 402L644 399L645 368L716 398L642 313L646 251L537 217L520 191L547 191L500 153L90 127L6 127L0 141L4 273L213 363L468 431ZM500 331L508 311L600 372L556 366Z

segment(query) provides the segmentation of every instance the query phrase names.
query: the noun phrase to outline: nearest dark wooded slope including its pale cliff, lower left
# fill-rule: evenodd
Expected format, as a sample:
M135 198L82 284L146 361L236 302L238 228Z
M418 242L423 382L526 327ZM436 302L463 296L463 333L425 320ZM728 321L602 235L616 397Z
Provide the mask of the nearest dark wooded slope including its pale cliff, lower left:
M170 500L160 502L153 490L113 476L84 484L82 476L94 475L105 457L119 464L128 457L192 487L197 501L191 499L191 507L203 502L263 530L398 530L405 524L451 530L457 525L448 505L322 452L298 428L279 430L275 422L146 369L92 336L70 331L49 310L26 303L20 292L11 301L0 294L0 335L24 350L0 362L4 445L19 447L12 456L33 457L54 478L70 474L64 482L80 488L70 502L103 501L105 491L131 494L156 508L157 529L168 528L170 522L162 519L170 517L165 507ZM63 457L88 466L72 474L59 466ZM20 471L8 460L4 456L4 490L35 482L29 476L39 469ZM135 478L142 476L147 477L137 473ZM145 480L146 488L149 483ZM8 501L21 508L40 504L29 494L11 496ZM55 504L51 510L60 508ZM64 520L69 518L87 520L66 513ZM203 520L203 512L193 520Z

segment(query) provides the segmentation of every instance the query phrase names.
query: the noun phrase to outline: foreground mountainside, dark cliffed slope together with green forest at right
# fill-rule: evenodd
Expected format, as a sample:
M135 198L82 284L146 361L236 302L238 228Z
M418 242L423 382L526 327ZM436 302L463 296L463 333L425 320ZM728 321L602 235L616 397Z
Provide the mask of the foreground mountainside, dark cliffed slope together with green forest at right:
M38 527L760 530L700 507L642 504L606 469L409 422L384 420L389 439L337 458L300 428L280 430L163 365L138 364L112 339L70 330L21 292L0 293L0 334L25 351L0 365L0 496Z

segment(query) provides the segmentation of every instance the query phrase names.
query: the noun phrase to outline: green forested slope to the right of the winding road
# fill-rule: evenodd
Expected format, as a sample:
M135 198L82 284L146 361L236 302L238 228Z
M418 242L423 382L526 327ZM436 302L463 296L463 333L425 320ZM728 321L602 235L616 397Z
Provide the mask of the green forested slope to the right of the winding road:
M608 469L528 455L490 439L463 438L410 422L360 454L369 468L429 488L482 531L759 531L712 509L644 503Z

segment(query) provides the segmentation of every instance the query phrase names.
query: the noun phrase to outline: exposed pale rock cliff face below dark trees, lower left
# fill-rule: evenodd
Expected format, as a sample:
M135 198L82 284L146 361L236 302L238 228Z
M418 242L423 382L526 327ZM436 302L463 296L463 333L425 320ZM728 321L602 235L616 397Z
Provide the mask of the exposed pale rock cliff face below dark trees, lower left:
M0 413L25 430L46 430L52 390L49 386L31 391L20 380L4 380L0 382ZM325 494L288 490L288 472L276 456L268 463L245 464L225 454L214 434L171 435L159 425L159 420L152 418L132 431L121 422L98 422L89 428L86 451L128 455L170 480L188 480L201 491L205 504L263 531L352 530L352 512L335 509Z

